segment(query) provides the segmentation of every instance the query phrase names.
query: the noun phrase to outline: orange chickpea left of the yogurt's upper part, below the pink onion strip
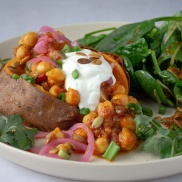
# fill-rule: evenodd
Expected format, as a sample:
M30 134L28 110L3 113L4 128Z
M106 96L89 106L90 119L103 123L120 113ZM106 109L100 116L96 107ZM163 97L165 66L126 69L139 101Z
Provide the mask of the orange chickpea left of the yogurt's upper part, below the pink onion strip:
M65 80L65 74L60 68L54 68L46 72L46 76L50 85L62 85Z

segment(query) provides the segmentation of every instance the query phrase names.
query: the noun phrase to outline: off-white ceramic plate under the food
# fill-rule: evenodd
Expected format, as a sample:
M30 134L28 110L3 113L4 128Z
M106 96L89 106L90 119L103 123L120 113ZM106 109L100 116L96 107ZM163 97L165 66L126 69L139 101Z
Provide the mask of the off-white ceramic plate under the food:
M90 31L120 26L121 22L99 22L63 26L60 29L72 40ZM20 37L0 43L0 58L13 56L13 48ZM150 106L154 103L149 103ZM172 114L168 110L168 114ZM92 157L91 162L52 159L22 151L0 143L0 156L23 167L55 177L81 181L138 181L166 177L182 172L182 157L160 160L154 154L133 151L123 154L113 162Z

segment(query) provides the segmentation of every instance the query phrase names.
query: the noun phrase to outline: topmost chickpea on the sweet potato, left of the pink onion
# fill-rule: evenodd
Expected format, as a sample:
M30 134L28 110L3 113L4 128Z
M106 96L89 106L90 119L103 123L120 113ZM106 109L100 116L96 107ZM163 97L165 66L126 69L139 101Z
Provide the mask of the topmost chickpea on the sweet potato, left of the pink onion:
M19 41L19 44L24 44L29 48L33 48L37 43L38 35L35 32L28 32Z

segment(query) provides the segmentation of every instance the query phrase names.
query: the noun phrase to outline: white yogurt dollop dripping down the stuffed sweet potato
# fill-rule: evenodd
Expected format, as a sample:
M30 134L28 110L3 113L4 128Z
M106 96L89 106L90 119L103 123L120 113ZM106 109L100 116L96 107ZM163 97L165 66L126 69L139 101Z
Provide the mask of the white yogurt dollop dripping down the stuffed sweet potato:
M63 60L63 71L66 75L65 87L77 90L80 94L79 108L89 108L93 111L97 108L100 101L100 86L101 83L110 79L113 79L113 84L116 79L112 73L110 64L101 56L99 59L102 64L96 65L91 63L80 64L77 62L80 58L88 58L91 51L88 49L82 49L79 51L84 55L77 55L76 52L66 53L66 59ZM72 77L72 71L77 70L79 77L74 79Z

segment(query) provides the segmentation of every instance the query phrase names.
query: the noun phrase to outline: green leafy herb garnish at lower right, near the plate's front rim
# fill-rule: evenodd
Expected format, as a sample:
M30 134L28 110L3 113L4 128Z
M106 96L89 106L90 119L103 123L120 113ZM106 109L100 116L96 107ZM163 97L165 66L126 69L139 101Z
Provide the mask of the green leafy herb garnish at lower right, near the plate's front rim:
M143 113L137 115L134 120L136 136L144 141L142 150L159 153L161 159L182 155L182 129L178 126L173 124L172 129L169 129L160 121Z

